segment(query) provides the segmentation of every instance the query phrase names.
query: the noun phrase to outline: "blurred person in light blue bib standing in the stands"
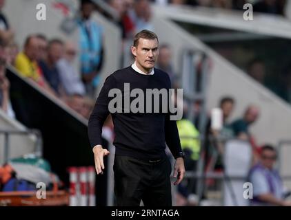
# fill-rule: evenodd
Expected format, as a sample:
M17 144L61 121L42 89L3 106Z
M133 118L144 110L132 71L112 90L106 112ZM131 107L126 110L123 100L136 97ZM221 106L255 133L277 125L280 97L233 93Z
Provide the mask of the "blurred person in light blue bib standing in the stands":
M103 63L103 28L91 19L93 11L92 1L81 1L81 74L87 94L92 97L99 84L99 71Z

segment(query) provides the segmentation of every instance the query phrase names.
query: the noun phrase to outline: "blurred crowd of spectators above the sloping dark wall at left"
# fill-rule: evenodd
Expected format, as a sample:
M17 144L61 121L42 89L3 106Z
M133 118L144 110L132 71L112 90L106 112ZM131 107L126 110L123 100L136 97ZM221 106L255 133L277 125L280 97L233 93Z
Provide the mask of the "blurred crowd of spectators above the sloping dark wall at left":
M4 0L0 1L0 10L4 3ZM88 16L88 7L86 8L86 6L86 4L81 5L83 18ZM96 26L90 26L90 23L86 23L86 19L81 19L80 29L84 28L86 24L89 26L88 31L96 28ZM14 41L14 31L10 28L5 15L1 13L1 109L14 117L9 98L9 81L6 77L6 65L12 65L21 76L27 78L30 83L43 92L61 100L83 118L89 118L94 105L92 87L96 83L94 84L93 81L97 78L102 63L101 45L92 46L94 42L91 43L88 36L83 36L80 45L78 45L76 42L48 39L44 34L32 33L24 39L23 48L19 48ZM79 48L83 51L80 52ZM74 61L77 58L81 62L80 69L74 67Z

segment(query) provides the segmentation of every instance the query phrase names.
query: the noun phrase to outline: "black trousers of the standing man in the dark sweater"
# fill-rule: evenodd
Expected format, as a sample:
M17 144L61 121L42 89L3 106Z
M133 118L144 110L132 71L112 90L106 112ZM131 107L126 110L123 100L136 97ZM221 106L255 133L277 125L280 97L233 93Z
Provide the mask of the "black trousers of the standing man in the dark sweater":
M159 161L115 155L114 194L117 206L172 206L167 157Z

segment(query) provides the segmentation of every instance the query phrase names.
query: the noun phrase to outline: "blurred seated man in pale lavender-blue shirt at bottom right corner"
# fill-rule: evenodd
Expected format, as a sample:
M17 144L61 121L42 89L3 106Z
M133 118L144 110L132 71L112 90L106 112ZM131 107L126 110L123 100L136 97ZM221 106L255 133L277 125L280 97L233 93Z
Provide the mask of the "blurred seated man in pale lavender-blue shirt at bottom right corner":
M291 206L286 201L282 179L274 170L277 153L273 146L265 145L261 149L260 162L249 174L249 181L253 187L252 206Z

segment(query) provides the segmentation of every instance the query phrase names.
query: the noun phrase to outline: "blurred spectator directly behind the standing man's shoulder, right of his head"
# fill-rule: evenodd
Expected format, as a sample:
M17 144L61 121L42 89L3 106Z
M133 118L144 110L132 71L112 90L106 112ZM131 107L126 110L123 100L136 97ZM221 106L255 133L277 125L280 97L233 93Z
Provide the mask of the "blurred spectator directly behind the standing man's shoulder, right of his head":
M172 52L170 46L167 44L161 45L159 47L159 57L157 62L157 68L168 73L171 82L175 82L176 74L174 74L174 68L172 67Z

